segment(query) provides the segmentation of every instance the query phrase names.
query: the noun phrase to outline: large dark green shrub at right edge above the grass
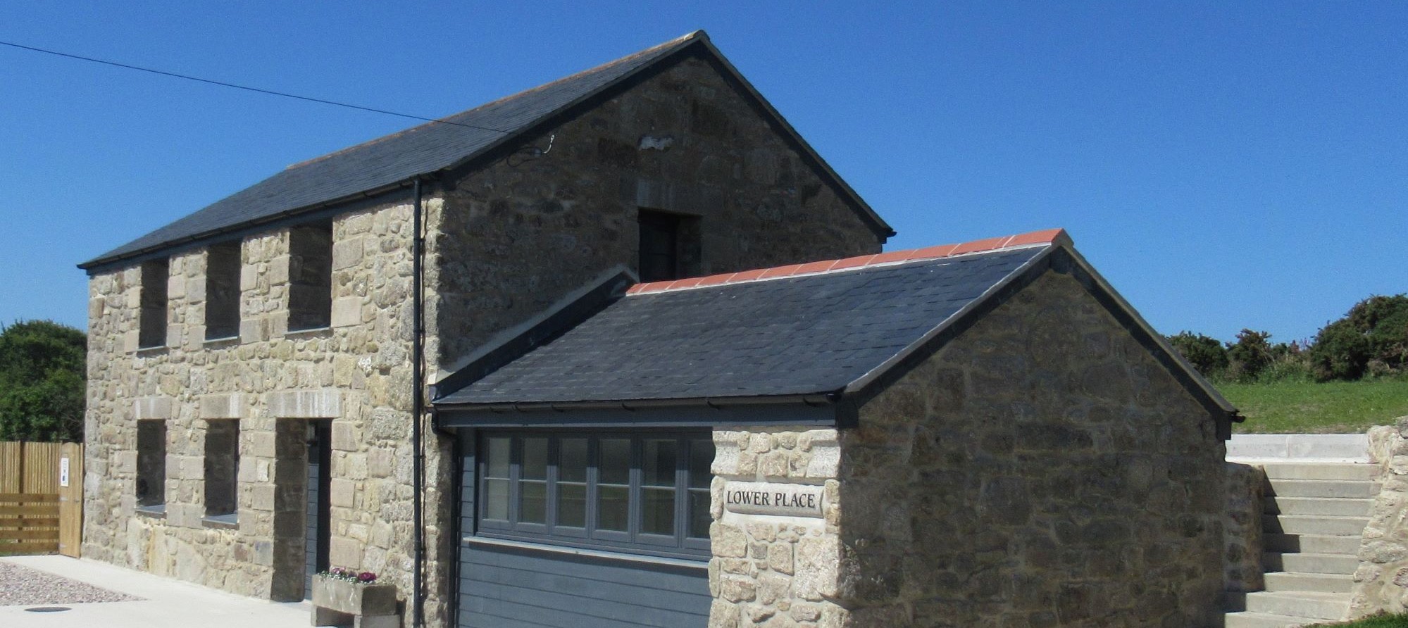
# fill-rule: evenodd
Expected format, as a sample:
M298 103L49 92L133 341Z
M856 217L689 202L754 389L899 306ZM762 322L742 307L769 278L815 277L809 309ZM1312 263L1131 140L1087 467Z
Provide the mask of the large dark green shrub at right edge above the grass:
M1402 372L1408 366L1408 294L1356 303L1319 331L1309 363L1321 382Z

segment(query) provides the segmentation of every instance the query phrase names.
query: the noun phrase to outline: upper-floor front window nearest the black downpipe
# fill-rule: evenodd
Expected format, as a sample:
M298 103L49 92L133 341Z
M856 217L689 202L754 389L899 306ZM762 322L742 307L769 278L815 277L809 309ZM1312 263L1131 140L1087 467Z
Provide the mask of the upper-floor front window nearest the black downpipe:
M289 329L332 324L332 222L289 230Z

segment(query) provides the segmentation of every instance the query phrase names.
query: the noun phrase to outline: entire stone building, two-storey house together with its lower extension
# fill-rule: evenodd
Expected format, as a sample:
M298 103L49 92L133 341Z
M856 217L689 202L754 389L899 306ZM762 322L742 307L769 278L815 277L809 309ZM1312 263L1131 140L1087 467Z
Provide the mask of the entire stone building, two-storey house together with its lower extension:
M1226 403L1060 232L888 235L703 32L289 166L80 266L83 553L406 625L1214 625Z

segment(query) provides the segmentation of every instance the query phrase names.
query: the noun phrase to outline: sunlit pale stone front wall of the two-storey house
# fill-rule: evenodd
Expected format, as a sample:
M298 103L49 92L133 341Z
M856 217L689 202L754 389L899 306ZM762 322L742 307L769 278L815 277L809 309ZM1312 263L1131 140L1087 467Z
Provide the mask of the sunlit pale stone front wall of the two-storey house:
M206 249L170 258L165 348L137 351L137 266L90 279L84 556L301 597L303 422L328 418L331 562L410 590L410 217L406 200L337 217L335 320L324 329L287 331L289 230L242 244L238 339L204 339ZM137 420L148 417L168 425L165 518L134 508ZM207 421L231 418L238 529L203 521ZM280 560L296 573L276 577Z

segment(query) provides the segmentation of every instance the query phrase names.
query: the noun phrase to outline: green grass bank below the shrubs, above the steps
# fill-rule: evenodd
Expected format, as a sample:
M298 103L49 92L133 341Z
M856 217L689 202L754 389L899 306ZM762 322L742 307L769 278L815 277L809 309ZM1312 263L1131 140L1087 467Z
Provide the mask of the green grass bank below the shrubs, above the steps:
M1246 417L1232 425L1238 434L1357 434L1408 415L1402 379L1219 383L1218 390Z

